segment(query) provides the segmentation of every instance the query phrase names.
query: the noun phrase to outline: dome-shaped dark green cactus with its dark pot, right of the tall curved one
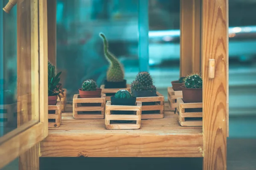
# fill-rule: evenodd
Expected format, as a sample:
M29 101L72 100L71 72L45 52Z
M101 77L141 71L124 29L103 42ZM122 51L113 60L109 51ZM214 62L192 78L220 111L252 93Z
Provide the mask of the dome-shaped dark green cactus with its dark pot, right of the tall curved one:
M153 79L146 71L137 74L136 79L131 83L131 92L136 97L157 96L157 89L153 85Z

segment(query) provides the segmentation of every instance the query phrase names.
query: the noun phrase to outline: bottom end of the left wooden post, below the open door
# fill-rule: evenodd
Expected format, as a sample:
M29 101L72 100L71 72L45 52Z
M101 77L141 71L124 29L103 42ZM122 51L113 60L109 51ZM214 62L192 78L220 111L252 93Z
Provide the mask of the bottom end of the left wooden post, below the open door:
M20 155L19 170L39 170L39 143Z

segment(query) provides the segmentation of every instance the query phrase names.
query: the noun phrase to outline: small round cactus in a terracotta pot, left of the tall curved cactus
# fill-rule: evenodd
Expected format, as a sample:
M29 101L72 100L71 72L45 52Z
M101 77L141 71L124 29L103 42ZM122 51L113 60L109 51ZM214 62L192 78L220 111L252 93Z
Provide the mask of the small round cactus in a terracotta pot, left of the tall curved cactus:
M96 82L92 79L87 79L83 82L82 88L79 88L81 98L97 98L101 97L101 88L97 88Z

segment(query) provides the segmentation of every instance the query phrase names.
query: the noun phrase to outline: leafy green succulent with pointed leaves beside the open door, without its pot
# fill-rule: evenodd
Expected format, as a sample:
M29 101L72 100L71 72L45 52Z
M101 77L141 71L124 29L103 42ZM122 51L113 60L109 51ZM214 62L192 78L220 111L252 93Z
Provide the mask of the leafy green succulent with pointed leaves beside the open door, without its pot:
M57 85L60 81L59 76L61 72L55 75L55 66L48 67L48 96L57 96L61 100L64 97L62 90L57 88Z

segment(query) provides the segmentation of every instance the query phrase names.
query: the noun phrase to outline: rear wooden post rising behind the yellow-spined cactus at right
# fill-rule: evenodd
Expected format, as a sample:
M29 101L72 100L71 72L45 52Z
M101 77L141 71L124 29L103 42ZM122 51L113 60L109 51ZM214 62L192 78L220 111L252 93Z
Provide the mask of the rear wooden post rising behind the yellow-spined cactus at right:
M180 0L180 77L201 71L201 0Z

